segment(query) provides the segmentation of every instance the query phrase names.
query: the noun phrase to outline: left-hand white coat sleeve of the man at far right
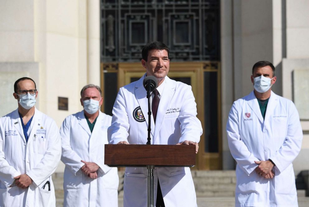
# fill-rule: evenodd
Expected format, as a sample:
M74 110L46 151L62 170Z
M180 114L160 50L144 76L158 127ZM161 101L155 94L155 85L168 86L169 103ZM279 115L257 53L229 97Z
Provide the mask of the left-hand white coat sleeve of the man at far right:
M253 153L249 151L248 147L241 140L239 125L237 106L234 102L226 124L227 141L237 165L249 176L258 166L254 161L259 161L259 159L254 157Z

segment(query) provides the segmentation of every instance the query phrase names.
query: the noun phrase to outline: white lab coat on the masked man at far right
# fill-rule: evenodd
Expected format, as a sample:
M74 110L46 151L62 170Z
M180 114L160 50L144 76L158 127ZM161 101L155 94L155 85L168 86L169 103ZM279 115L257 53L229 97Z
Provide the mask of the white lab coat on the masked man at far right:
M293 160L302 144L302 128L292 101L271 92L265 119L251 92L234 102L226 125L237 162L235 206L298 206ZM273 179L256 174L254 161L271 159Z

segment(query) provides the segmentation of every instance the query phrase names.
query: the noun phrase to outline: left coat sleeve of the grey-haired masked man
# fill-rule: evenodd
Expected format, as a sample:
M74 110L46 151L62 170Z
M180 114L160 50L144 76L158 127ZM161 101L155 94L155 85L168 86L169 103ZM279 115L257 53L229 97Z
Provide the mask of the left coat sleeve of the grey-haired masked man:
M62 145L61 161L76 175L84 163L81 162L82 158L71 148L71 118L71 115L66 117L60 127Z

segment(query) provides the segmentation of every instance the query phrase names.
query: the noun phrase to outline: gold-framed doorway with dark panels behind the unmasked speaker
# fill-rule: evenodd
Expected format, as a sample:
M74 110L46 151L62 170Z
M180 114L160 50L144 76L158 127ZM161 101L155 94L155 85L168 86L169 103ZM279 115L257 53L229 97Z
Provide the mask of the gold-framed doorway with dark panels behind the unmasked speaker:
M112 115L119 88L142 77L145 68L140 63L102 64L101 68L104 97L101 110ZM203 134L199 142L195 169L222 169L219 62L171 62L168 76L191 85L197 103L197 118L202 123Z

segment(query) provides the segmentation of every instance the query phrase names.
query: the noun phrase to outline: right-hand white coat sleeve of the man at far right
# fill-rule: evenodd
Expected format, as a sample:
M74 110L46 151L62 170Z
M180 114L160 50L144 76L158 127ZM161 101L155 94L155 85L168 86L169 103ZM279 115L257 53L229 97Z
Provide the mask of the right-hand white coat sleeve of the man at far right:
M272 154L269 159L275 163L275 167L282 172L297 157L302 146L302 126L294 103L289 106L287 136L280 149Z

